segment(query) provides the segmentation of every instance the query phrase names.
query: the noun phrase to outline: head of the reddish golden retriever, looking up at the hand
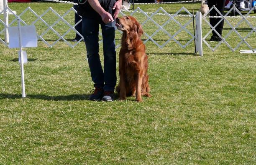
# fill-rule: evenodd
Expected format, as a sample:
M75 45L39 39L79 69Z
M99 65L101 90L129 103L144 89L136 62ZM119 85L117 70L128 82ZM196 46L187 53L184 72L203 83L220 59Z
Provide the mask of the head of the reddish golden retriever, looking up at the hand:
M141 37L141 35L143 34L143 29L142 29L140 23L138 23L136 18L134 18L132 16L116 18L115 22L116 22L115 25L118 28L118 30L121 30L126 33L135 31L139 37Z

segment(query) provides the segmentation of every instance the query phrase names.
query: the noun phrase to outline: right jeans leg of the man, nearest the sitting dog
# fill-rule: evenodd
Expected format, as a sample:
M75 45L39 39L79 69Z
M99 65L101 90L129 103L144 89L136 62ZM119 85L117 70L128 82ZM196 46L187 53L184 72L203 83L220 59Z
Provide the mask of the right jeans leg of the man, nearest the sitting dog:
M104 91L114 91L116 85L115 22L101 23L104 53Z

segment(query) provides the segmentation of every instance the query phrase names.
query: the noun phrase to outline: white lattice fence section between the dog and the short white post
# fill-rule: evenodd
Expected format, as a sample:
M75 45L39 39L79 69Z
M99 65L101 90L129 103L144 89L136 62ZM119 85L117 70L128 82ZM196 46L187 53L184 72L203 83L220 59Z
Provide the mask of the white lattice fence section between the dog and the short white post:
M125 15L125 12L120 12L121 15ZM179 13L186 13L186 15L179 15ZM152 41L155 45L162 48L166 46L169 42L174 41L176 42L180 47L185 48L187 45L189 45L194 39L195 36L193 33L193 15L185 8L182 7L180 10L177 11L175 14L169 14L164 10L162 7L159 7L154 13L148 13L141 10L141 8L137 7L136 10L134 10L130 15L135 16L137 19L140 17L144 17L145 19L141 21L141 25L144 28L144 43L147 43L148 41ZM160 22L154 20L154 17L165 17ZM187 20L182 20L182 23L177 20L177 18L184 16L187 18ZM153 32L149 34L150 32L147 32L147 28L145 28L147 23L151 23L155 27ZM189 27L189 28L188 28ZM187 34L187 40L184 40L184 42L180 42L178 39L182 32ZM162 40L162 43L159 43L157 39L154 39L154 36L158 35L158 33L162 33L166 37L166 40ZM184 33L182 35L184 35ZM157 37L156 37L157 38ZM118 47L119 45L117 45Z

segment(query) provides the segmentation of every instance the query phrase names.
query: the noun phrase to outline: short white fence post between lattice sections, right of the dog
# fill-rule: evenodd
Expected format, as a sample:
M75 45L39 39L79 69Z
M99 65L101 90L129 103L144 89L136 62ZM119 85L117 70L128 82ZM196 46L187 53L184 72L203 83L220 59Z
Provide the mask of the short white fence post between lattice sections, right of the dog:
M199 52L200 56L203 56L202 53L202 13L196 13L196 53Z

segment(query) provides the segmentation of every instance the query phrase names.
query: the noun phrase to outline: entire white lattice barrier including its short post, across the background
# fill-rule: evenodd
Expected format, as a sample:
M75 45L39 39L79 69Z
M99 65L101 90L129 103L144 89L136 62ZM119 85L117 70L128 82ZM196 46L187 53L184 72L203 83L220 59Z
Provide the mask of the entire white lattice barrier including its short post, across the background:
M69 14L74 14L77 13L76 10L74 10L73 7L71 7L67 12L65 12L63 15L58 14L53 8L49 7L43 14L38 15L34 10L31 9L31 7L27 7L22 13L20 13L19 15L15 14L9 7L6 7L6 10L11 12L14 16L14 19L11 21L10 24L6 24L6 22L4 20L0 19L0 25L2 24L1 27L3 27L3 29L0 29L0 35L5 33L6 30L8 29L8 27L15 25L15 23L17 22L18 19L21 20L21 23L23 25L35 25L36 23L44 23L44 25L46 25L46 30L44 30L44 32L42 33L38 33L37 37L38 40L42 40L47 46L49 47L54 47L54 45L56 45L56 43L58 43L59 41L64 41L65 43L67 43L67 45L69 45L70 47L75 47L79 42L81 42L83 40L83 38L81 38L79 41L77 42L69 42L69 40L66 38L67 34L69 32L75 32L78 33L81 37L82 34L80 34L76 29L75 26L78 25L78 23L80 23L80 20L78 23L76 23L75 25L73 25L72 23L69 23L65 17ZM144 32L144 43L147 43L149 41L153 42L155 45L157 45L158 47L162 48L165 47L169 42L173 41L174 43L177 43L177 45L179 45L182 48L187 47L188 45L193 43L193 40L195 40L195 47L196 47L196 52L200 52L200 55L202 55L202 51L200 51L200 49L198 48L202 48L203 45L202 43L204 43L207 47L210 48L210 50L215 51L216 49L218 49L218 47L220 47L221 44L225 44L228 46L228 48L232 51L237 50L239 47L241 47L241 45L243 43L246 44L246 46L252 51L252 52L256 52L255 49L255 44L253 45L253 43L249 43L246 40L251 37L252 35L256 34L256 17L255 16L249 16L249 14L253 11L256 10L255 7L253 7L251 9L251 11L249 11L246 15L242 15L239 10L236 7L232 7L228 13L226 13L225 15L221 15L221 13L218 11L218 9L213 6L211 10L216 10L217 13L220 16L210 16L210 17L217 17L219 19L219 22L217 23L217 25L224 20L225 24L228 25L228 28L230 28L229 32L223 36L221 36L217 30L215 30L216 26L212 26L210 24L210 22L208 21L209 16L202 16L200 14L200 12L197 12L197 14L194 16L192 13L190 13L185 7L182 7L180 10L178 10L175 14L170 14L168 12L166 12L166 10L164 10L162 7L159 7L154 13L148 13L143 11L141 8L137 7L136 10L131 11L125 11L122 10L120 12L120 16L124 16L126 14L129 15L133 15L136 17L136 15L139 15L138 17L144 17L146 18L146 20L141 21L141 25L142 26L146 26L146 24L151 23L151 25L154 25L154 27L156 27L156 29L151 29L154 32L149 34L149 32L147 30L145 30ZM239 14L239 16L236 17L230 17L228 16L228 14L230 12L232 12L233 10L236 10L236 12ZM210 12L209 11L209 12ZM23 20L22 17L27 14L28 12L31 13L31 15L35 16L36 19L32 21L32 23L26 23L26 20ZM0 14L3 14L4 10L2 12L0 12ZM8 13L8 12L7 12ZM125 14L126 13L126 14ZM45 15L54 15L54 18L57 18L56 20L54 20L54 23L47 23L46 20L43 19L43 17ZM154 18L156 16L163 16L165 17L165 20L160 22L158 20L154 20ZM186 18L182 19L182 21L178 20L177 18ZM216 19L217 19L216 18ZM248 21L248 18L252 19L253 21ZM195 35L193 32L193 21L194 19L196 19L195 23ZM241 19L238 22L236 22L235 25L233 25L232 23L230 23L230 21L228 21L228 19ZM59 23L64 23L65 26L68 27L68 30L66 32L64 32L63 34L59 33L56 29L54 29L54 26L56 24ZM239 31L236 29L239 27L239 25L241 25L242 23L246 23L246 28L247 30L249 29L250 32L248 32L248 34L246 36L242 36ZM206 27L203 27L203 26ZM172 29L172 34L170 32L169 29ZM176 31L175 31L176 30ZM212 33L212 31L215 31L219 37L221 37L221 41L218 42L217 45L212 46L209 41L207 40L207 37ZM56 35L57 39L53 42L53 43L49 43L47 41L47 39L45 38L45 35L47 32L53 32L54 35ZM118 33L121 33L121 31L118 31ZM159 43L157 42L157 40L154 38L156 35L158 34L164 34L164 36L167 37L166 41L164 40L163 43ZM184 33L186 34L186 37L188 37L187 40L183 40L183 42L181 42L180 39L177 39L177 37L182 33L182 35L184 35ZM230 43L228 43L227 38L230 37L230 35L232 35L232 37L234 37L234 35L236 35L240 41L238 42L238 44L236 45L236 47L232 47L230 45ZM100 35L102 35L100 33ZM0 38L0 42L2 42L4 45L8 46L8 42L1 39ZM99 43L102 43L102 40L100 40ZM117 47L119 47L120 44L117 44ZM254 47L253 47L254 46Z

